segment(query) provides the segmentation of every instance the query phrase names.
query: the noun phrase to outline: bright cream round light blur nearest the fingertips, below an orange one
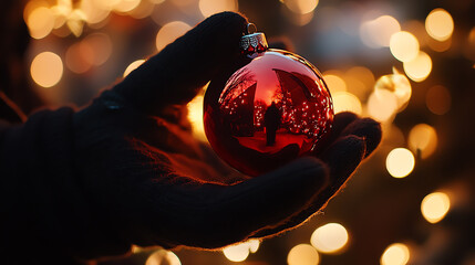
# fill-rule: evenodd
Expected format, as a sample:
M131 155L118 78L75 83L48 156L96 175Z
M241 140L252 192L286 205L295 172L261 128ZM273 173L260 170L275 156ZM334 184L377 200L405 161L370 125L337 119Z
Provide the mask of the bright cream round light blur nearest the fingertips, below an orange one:
M395 148L386 157L388 172L394 178L404 178L414 169L414 155L405 148Z

